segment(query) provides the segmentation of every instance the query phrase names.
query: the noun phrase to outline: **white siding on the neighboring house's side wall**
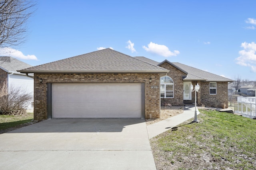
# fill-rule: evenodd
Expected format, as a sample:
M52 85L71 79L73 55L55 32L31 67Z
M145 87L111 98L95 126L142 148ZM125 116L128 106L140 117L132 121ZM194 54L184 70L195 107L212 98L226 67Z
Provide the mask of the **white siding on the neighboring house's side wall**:
M26 75L8 74L8 88L18 88L21 94L30 94L34 96L34 79ZM26 109L32 109L32 102L27 103Z

